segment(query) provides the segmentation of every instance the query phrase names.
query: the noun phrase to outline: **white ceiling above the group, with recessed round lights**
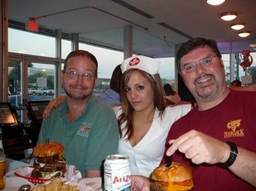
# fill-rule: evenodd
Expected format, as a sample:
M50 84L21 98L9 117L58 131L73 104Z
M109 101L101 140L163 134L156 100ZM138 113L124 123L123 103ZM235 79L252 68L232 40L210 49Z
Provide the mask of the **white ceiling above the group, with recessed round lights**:
M175 45L198 36L217 40L222 53L230 51L230 42L233 52L255 52L249 45L256 43L256 0L226 0L220 6L211 6L205 0L9 0L8 3L9 20L25 23L35 19L40 27L78 33L86 42L120 50L123 50L124 26L131 25L134 52L152 57L174 56ZM134 8L153 18L146 18ZM227 11L236 11L237 19L221 20L221 13ZM237 22L243 22L244 30L252 34L239 37L238 31L230 27Z

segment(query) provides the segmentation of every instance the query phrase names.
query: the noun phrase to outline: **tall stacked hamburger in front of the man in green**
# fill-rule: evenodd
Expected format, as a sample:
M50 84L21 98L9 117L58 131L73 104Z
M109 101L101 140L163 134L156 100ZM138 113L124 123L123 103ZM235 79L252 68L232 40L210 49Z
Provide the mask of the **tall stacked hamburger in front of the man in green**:
M33 178L63 177L66 172L66 160L63 158L64 147L59 142L44 142L33 150L35 157Z

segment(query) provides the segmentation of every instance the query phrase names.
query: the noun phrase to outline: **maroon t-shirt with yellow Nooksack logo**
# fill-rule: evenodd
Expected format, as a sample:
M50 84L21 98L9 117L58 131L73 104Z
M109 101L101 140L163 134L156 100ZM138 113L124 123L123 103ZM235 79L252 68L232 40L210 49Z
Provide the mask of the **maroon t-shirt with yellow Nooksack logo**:
M166 139L165 152L169 148L170 139L177 139L192 129L256 151L256 92L231 90L227 98L216 107L207 111L198 111L195 107L186 116L173 123ZM195 183L193 191L255 190L252 185L238 178L229 169L210 164L195 165L179 151L173 154L173 161L191 167ZM165 163L164 153L161 164Z

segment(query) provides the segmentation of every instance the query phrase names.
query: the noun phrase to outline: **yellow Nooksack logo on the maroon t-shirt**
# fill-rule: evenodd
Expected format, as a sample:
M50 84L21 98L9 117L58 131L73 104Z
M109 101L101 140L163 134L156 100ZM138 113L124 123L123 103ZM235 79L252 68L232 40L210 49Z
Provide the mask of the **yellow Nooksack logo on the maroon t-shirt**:
M244 137L244 129L237 129L241 126L242 120L236 119L227 123L227 128L231 131L224 132L224 138Z

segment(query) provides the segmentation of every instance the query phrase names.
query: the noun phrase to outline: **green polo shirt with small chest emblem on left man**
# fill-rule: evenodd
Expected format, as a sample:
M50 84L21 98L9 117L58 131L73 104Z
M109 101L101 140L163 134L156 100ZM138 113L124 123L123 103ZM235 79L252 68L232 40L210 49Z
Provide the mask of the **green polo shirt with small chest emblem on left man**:
M113 109L92 95L82 114L71 123L67 102L61 103L43 120L38 143L58 141L64 147L67 164L86 170L100 170L107 155L118 151L118 124Z

